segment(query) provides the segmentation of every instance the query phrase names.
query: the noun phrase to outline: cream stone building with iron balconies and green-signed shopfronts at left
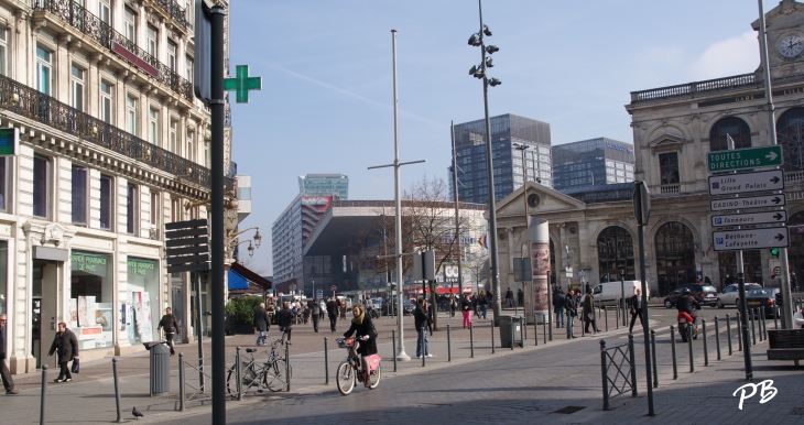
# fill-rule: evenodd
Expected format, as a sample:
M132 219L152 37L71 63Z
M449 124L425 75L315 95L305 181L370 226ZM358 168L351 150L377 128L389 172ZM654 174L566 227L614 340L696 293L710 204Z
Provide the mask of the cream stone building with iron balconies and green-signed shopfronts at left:
M0 140L19 143L0 156L0 313L12 373L54 361L59 322L85 360L144 350L160 339L165 307L183 340L208 330L192 326L203 308L191 274L169 274L164 261L164 225L206 217L209 198L193 3L0 0ZM208 293L204 281L203 303Z

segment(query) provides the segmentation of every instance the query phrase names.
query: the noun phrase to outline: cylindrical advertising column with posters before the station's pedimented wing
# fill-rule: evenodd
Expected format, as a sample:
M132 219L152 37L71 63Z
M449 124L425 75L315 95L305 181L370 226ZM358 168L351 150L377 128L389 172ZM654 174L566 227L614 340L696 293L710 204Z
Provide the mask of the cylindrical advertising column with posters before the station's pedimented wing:
M531 240L531 268L533 269L533 314L539 323L550 317L550 233L547 221L532 217L528 228Z

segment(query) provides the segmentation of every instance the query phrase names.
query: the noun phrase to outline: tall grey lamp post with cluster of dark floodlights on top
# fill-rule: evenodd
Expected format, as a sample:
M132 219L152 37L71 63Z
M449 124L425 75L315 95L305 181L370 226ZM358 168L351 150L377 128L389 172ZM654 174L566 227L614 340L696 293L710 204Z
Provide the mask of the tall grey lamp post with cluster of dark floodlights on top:
M491 36L491 30L489 30L488 26L484 25L484 13L482 13L482 2L481 0L477 1L478 3L478 10L480 12L480 31L478 31L475 34L471 34L469 37L469 45L475 47L480 47L480 64L475 65L469 69L469 75L471 75L475 78L482 79L484 81L484 109L486 112L486 167L488 171L488 188L489 188L489 239L490 239L490 248L489 248L489 255L491 257L491 270L489 271L491 274L491 287L495 288L495 304L493 313L495 313L495 324L497 324L497 319L500 317L500 269L497 261L497 201L495 199L495 168L493 163L491 160L491 123L489 122L489 86L495 87L502 84L497 78L489 78L488 77L488 68L495 66L495 64L491 61L491 57L486 57L486 54L489 55L499 52L500 48L495 45L486 45L485 36Z

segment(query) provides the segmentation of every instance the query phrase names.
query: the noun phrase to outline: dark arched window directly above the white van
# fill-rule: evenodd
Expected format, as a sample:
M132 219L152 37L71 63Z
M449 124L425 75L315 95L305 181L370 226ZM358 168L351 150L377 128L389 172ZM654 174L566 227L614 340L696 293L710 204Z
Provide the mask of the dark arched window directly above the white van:
M597 258L600 283L620 280L620 271L626 272L626 280L635 280L633 268L633 240L628 230L611 226L597 237Z

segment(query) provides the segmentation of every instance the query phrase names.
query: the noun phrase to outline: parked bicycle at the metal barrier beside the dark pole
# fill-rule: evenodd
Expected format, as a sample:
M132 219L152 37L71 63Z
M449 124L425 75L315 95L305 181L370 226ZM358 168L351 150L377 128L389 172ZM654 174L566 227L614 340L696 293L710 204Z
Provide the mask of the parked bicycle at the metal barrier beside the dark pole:
M283 358L284 351L280 350L280 347L285 345L286 337L287 334L282 334L280 339L268 337L271 350L262 351L268 355L264 360L254 358L254 353L260 351L259 349L246 349L246 360L242 360L240 366L240 386L243 393L252 388L256 388L259 393L263 392L265 388L272 392L287 388L287 382L293 377L293 370ZM236 367L237 364L232 364L226 377L226 390L232 397L237 397L237 380L233 378L237 375Z

